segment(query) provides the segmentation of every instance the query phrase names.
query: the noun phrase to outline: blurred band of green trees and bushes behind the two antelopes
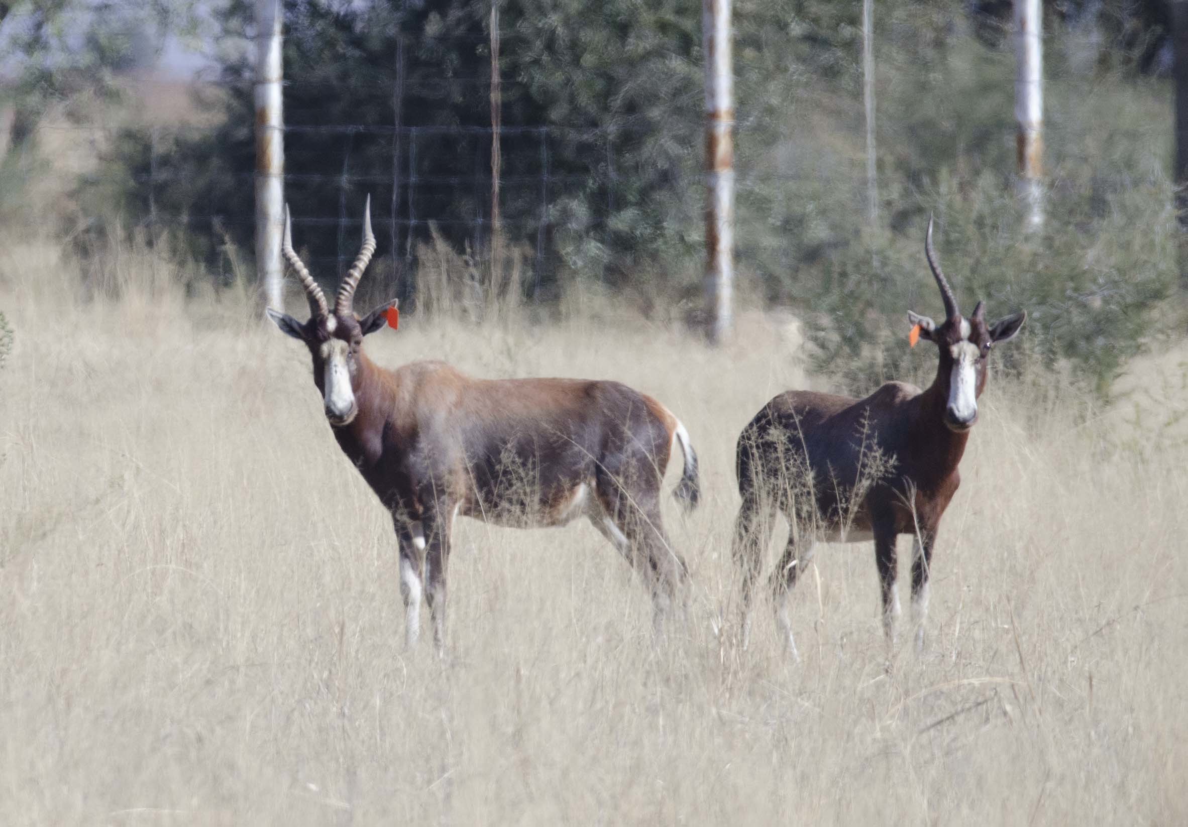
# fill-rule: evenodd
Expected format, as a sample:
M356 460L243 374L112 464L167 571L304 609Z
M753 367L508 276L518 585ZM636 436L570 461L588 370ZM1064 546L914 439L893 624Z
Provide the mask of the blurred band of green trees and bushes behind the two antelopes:
M202 261L216 282L229 259L249 266L251 4L198 13L196 4L158 2L134 14L113 0L74 27L58 25L83 19L70 0L33 6L20 26L0 24L19 49L4 94L23 113L8 131L23 151L0 165L0 220L27 209L19 178L44 169L30 160L45 159L37 118L53 102L119 95L120 72L151 62L143 32L182 32L208 44L215 65L191 93L194 115L122 122L100 163L72 182L62 220L82 250L113 232L168 233L173 254ZM355 232L346 229L358 225L333 216L356 221L371 192L377 225L387 227L378 228L379 288L415 296L417 251L430 241L481 257L489 4L285 0L284 10L286 198L298 246L336 251L340 264L353 255ZM1038 355L1107 392L1131 356L1182 322L1180 303L1168 301L1178 270L1165 4L1045 4L1048 217L1034 233L1023 231L1015 195L1010 1L878 0L874 10L871 223L861 4L735 0L742 299L795 313L816 366L846 386L927 380L933 360L906 347L904 311L940 313L923 259L931 212L962 305L985 298L992 316L1029 311L1015 361ZM537 251L525 298L548 308L588 282L653 316L694 316L704 204L700 5L500 0L499 32L511 127L501 228L508 245ZM397 118L423 133L393 140ZM359 130L324 128L343 125ZM411 198L410 172L421 182ZM434 223L410 226L413 216ZM314 261L333 283L336 265Z

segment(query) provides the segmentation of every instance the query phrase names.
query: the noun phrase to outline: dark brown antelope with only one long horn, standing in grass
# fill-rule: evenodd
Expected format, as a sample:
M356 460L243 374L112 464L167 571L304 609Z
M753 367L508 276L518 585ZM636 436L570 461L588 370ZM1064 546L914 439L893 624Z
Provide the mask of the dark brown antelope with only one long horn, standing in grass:
M899 615L896 539L915 537L911 600L916 648L924 645L928 576L941 517L961 482L958 465L978 418L991 346L1012 339L1025 313L986 323L978 302L961 315L933 250L928 220L924 255L944 302L944 322L909 311L916 337L937 346L936 378L927 390L890 381L865 399L788 391L742 429L737 471L742 506L734 558L742 569L742 644L750 635L754 579L777 511L789 522L788 545L771 575L776 619L794 658L789 593L814 544L874 541L883 624L893 645Z

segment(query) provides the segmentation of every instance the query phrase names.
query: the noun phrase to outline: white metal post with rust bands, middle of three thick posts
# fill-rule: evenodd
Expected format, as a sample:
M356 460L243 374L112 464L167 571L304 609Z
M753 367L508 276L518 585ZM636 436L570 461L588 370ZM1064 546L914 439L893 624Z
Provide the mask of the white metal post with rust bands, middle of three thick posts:
M702 0L706 61L706 295L709 339L731 332L734 282L734 74L731 0Z

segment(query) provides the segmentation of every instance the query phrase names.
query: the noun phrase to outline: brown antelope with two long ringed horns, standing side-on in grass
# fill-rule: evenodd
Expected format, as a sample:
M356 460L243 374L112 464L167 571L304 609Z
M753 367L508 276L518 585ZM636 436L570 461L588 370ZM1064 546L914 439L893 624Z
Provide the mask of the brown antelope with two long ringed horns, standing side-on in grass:
M293 252L287 208L282 251L305 290L310 318L303 324L271 309L268 316L309 347L334 436L392 514L407 645L418 637L424 593L438 651L444 646L446 567L459 514L519 528L587 517L644 575L659 623L685 575L659 509L677 444L684 473L675 494L689 509L699 498L689 434L664 405L617 381L472 379L441 361L394 371L375 365L364 336L394 321L397 303L362 317L353 309L375 251L371 198L362 250L333 311Z

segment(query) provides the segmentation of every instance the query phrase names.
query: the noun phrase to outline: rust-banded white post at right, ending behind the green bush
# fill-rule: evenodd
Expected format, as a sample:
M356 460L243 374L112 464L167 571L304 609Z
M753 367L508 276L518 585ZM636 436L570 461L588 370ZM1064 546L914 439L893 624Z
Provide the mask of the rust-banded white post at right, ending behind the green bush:
M1043 225L1043 10L1040 0L1015 0L1015 120L1018 122L1019 191L1028 226Z

